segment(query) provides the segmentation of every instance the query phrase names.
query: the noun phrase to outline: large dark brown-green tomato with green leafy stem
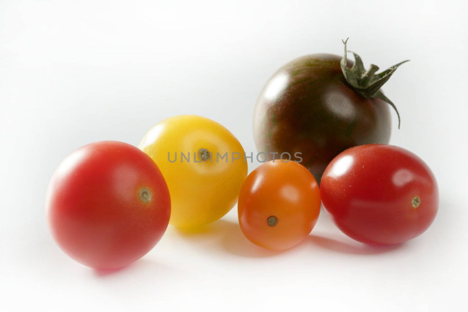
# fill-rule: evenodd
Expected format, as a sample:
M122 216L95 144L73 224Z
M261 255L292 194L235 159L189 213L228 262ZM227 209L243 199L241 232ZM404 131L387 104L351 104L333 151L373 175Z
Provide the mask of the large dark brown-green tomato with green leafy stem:
M358 84L366 70L360 58L355 58L355 66L349 68L350 61L340 63L347 58L312 54L292 60L273 74L258 97L254 114L256 147L267 153L268 160L275 156L272 153L300 152L301 164L320 183L325 167L345 149L388 143L391 118L383 99L390 101L378 86L400 64L385 71L385 77L374 75Z

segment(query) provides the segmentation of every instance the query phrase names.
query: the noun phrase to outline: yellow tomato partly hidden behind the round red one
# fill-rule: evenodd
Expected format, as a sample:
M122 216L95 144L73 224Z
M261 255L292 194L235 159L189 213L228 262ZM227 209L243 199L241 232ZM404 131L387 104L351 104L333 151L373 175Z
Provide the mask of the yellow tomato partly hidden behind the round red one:
M247 176L245 152L219 123L200 116L174 116L156 124L138 147L158 164L168 183L171 225L206 225L237 202Z

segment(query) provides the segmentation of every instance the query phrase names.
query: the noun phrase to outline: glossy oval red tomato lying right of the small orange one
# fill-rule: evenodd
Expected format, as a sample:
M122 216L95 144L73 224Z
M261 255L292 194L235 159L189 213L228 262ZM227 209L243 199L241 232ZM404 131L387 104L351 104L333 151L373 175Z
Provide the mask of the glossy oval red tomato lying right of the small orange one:
M320 188L338 228L368 244L399 244L419 236L439 208L431 169L394 145L360 145L340 153L325 169Z

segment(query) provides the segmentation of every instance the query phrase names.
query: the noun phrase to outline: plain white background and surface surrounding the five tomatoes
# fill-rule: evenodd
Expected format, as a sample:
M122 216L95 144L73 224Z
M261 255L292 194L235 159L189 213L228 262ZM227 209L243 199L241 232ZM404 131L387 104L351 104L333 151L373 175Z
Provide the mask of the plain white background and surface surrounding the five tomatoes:
M466 1L0 0L0 310L437 311L466 298ZM44 198L67 154L138 144L168 116L225 125L256 152L263 84L304 54L403 59L385 86L402 116L391 144L435 173L439 214L400 247L347 238L322 211L299 246L251 244L236 207L198 234L172 226L144 258L96 272L52 241ZM249 164L249 171L258 164ZM465 301L466 302L466 301ZM290 311L290 310L288 310Z

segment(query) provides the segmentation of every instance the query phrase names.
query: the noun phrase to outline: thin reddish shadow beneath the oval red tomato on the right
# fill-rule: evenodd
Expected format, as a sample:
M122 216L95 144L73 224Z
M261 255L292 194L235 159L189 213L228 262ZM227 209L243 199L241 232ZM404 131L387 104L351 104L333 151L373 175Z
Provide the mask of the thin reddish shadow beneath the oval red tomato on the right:
M314 246L322 247L343 254L383 254L398 249L404 245L368 245L358 241L347 243L314 234L310 234L307 237L307 240L314 244Z

